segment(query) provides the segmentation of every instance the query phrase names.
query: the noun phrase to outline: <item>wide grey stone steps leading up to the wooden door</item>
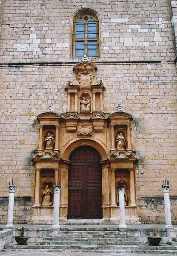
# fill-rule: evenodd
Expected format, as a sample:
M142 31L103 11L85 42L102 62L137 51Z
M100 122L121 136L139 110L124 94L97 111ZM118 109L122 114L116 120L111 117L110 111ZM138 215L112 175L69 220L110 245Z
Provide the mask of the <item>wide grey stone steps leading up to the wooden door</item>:
M128 231L119 230L117 227L104 225L78 225L62 227L51 237L40 238L35 243L27 245L8 244L5 251L9 250L55 250L72 252L99 252L99 253L160 253L177 254L177 244L160 244L149 246L141 243L140 237L131 236ZM177 243L177 242L176 242Z

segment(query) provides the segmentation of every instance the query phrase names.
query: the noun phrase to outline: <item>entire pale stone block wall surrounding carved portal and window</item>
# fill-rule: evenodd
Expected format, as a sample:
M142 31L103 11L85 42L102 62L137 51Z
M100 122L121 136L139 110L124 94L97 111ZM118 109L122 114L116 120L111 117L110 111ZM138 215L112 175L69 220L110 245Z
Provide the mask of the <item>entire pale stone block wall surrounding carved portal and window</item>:
M73 68L81 61L71 53L72 17L78 9L90 7L100 15L100 56L89 60L106 88L104 112L114 113L121 102L134 117L131 144L139 159L138 216L142 223L165 223L161 185L168 177L171 218L177 223L175 2L5 0L3 5L0 1L2 196L8 196L7 185L13 177L16 197L34 197L31 160L40 137L35 120L49 104L59 115L68 111L65 87L74 81ZM98 120L93 117L93 127L101 131L103 124L98 125ZM75 127L68 122L66 129ZM67 134L63 136L69 142ZM8 201L0 202L0 223L6 223ZM31 202L15 201L14 224L30 219Z

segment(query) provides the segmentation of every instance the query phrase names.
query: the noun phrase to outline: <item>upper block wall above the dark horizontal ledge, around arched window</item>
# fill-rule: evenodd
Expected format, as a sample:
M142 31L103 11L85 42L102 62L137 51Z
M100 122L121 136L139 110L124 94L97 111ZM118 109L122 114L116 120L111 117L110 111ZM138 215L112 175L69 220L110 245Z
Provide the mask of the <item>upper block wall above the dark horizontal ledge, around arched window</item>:
M5 0L1 62L73 61L71 16L87 7L100 18L100 57L92 60L174 59L168 0Z

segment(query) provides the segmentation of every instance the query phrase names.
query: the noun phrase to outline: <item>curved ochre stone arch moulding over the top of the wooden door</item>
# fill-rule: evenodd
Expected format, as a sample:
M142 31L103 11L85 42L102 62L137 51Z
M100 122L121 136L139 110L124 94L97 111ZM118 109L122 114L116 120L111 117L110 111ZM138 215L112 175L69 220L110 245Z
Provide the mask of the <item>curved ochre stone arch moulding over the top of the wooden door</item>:
M63 160L69 160L69 156L72 153L72 151L74 151L74 149L80 147L80 146L91 146L93 148L95 148L100 156L101 156L101 160L106 160L107 159L107 153L106 150L104 148L103 143L97 142L96 140L92 140L92 139L79 139L79 140L74 140L70 143L67 143L64 151L63 151Z

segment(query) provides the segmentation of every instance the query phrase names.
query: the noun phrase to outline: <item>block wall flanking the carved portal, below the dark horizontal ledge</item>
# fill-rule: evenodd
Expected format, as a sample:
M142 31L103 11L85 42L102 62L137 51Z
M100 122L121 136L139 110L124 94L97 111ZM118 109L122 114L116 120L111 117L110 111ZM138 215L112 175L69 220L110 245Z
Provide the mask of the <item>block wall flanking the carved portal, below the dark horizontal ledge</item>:
M49 103L56 113L66 111L64 88L68 79L74 77L73 67L2 67L2 195L8 196L7 183L12 177L17 182L16 196L34 195L31 155L38 146L39 131L33 127L33 121L46 111ZM175 196L175 65L99 63L97 68L97 77L102 77L106 87L106 111L115 112L121 100L125 111L134 116L132 143L140 159L136 174L137 196L163 196L164 177L168 177L171 184L170 195ZM140 211L140 216L146 215L146 211ZM174 215L177 216L176 209Z

